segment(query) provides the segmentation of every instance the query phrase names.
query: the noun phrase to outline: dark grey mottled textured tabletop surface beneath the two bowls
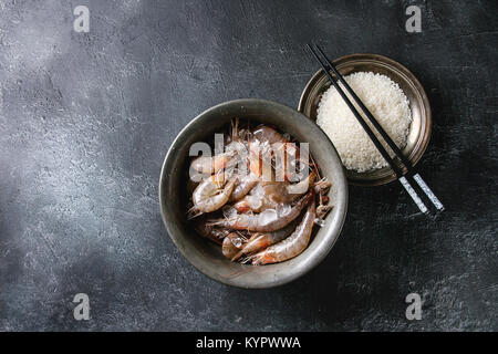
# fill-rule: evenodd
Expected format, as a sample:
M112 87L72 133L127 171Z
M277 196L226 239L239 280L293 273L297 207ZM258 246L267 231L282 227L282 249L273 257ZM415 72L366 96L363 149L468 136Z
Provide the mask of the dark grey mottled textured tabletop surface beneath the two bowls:
M405 31L409 3L419 34ZM86 4L90 33L73 31ZM0 1L0 330L498 330L496 1ZM391 56L429 95L419 169L430 221L397 184L352 187L326 260L288 285L221 285L163 226L169 144L217 103L297 106L331 58ZM73 319L85 292L91 320ZM424 300L405 319L406 294Z

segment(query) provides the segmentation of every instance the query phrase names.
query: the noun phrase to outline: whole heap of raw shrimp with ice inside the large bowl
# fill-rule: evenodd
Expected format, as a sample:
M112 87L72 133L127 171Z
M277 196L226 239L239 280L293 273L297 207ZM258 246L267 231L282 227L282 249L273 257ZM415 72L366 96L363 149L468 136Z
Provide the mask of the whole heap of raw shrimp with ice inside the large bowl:
M290 137L270 126L239 129L235 119L224 142L224 153L190 163L190 176L197 171L203 177L197 183L189 179L187 218L195 219L196 231L221 246L231 261L259 266L297 257L307 249L313 226L323 226L331 209L325 196L330 183L320 178L312 157L303 162ZM274 149L270 157L262 153L269 146L295 157L298 170L308 169L301 174L305 177L291 181L284 169L283 178L277 178ZM286 157L284 165L290 160Z

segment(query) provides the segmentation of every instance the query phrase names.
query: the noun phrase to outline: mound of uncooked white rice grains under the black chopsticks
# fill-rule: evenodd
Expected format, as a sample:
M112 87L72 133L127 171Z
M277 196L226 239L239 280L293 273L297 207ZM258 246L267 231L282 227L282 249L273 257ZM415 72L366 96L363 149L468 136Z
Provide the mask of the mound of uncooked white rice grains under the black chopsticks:
M372 72L357 72L344 79L390 137L400 148L404 148L412 124L412 112L400 86L390 77ZM343 86L342 88L345 92ZM354 102L349 94L347 96ZM387 166L334 86L323 93L317 124L330 137L347 169L362 173ZM372 129L375 132L373 127ZM378 136L377 133L376 135ZM384 142L383 144L390 150Z

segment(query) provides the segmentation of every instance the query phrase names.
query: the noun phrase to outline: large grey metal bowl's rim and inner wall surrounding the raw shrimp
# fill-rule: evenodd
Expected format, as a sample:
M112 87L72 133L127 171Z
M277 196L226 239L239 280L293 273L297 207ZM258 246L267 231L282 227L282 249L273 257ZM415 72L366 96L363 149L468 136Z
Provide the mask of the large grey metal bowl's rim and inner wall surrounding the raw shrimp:
M210 142L226 131L234 117L271 124L299 142L310 143L310 153L321 173L332 181L329 192L333 209L325 226L315 227L309 247L282 263L253 267L230 262L221 248L198 236L186 220L188 152L195 142ZM160 212L166 229L185 258L204 274L240 288L271 288L304 274L332 249L347 208L347 183L335 148L326 135L304 115L288 106L263 100L237 100L219 104L195 117L173 142L163 164L159 180Z

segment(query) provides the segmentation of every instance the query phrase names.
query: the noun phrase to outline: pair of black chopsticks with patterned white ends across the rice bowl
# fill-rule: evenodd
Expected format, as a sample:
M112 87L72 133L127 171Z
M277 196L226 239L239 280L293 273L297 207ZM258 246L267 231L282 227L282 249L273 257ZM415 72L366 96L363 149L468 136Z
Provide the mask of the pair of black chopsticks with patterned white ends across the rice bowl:
M322 60L320 59L320 56L318 55L318 53L315 52L315 50L310 45L307 44L308 49L311 51L311 53L313 54L313 56L317 59L317 61L320 63L320 65L322 66L323 71L326 73L326 75L329 76L331 83L334 85L335 90L338 91L338 93L341 95L341 97L344 100L344 102L347 104L347 106L350 107L351 112L354 114L354 116L356 117L357 122L360 123L360 125L363 127L363 129L366 132L366 134L369 135L369 137L372 139L373 144L375 145L375 147L377 148L377 150L381 153L381 155L384 157L384 159L387 162L387 164L390 165L390 167L394 170L396 178L400 180L400 183L403 185L403 187L406 189L406 191L408 192L408 195L412 197L412 199L415 201L415 204L417 205L418 209L424 212L427 214L428 209L425 206L424 201L421 199L421 197L417 195L417 192L415 191L415 189L412 187L412 185L409 184L408 179L406 177L409 177L409 174L413 171L413 166L412 164L408 162L408 159L403 155L403 153L400 150L400 148L396 146L396 144L391 139L391 137L388 136L388 134L382 128L382 126L378 124L378 122L375 119L375 117L372 115L372 113L365 107L365 105L363 104L363 102L360 100L360 97L354 93L354 91L350 87L350 85L346 83L346 81L342 77L342 75L339 73L339 71L334 67L334 65L331 63L331 61L326 58L326 55L323 53L323 51L315 45L317 51L323 56L324 59L324 63L322 62ZM375 136L375 134L372 132L372 129L370 128L370 126L366 124L366 122L364 121L364 118L361 116L361 114L356 111L356 108L354 107L354 105L351 103L351 101L347 98L347 96L345 95L345 93L342 91L341 86L339 85L339 83L333 79L333 76L331 75L330 71L332 71L335 76L339 79L339 81L344 85L344 87L347 90L347 92L350 93L350 95L353 97L353 100L356 102L356 104L360 106L360 108L363 111L363 113L366 115L366 117L369 118L369 121L372 123L372 125L375 127L375 129L380 133L380 135L385 139L385 142L387 143L387 145L392 148L392 150L394 152L394 154L396 155L396 157L401 160L402 165L405 167L406 169L406 176L403 175L403 170L396 165L396 163L391 158L390 154L385 150L384 146L382 145L382 143L378 140L378 138ZM434 192L430 190L430 188L425 184L424 179L422 178L422 176L417 173L415 173L413 175L413 179L415 180L415 183L418 185L418 187L421 188L421 190L427 196L427 198L430 200L430 202L435 206L435 208L438 211L444 210L443 204L439 201L439 199L434 195Z

